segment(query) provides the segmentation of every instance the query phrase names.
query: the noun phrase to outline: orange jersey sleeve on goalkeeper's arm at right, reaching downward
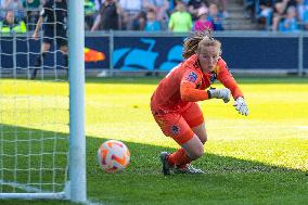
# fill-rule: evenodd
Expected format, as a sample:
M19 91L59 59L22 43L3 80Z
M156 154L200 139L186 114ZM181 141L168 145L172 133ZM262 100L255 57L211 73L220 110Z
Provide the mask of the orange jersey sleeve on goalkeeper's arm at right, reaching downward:
M217 74L217 79L231 91L233 99L238 99L239 97L244 98L243 92L241 91L235 79L229 72L227 63L223 60L220 60L218 62L218 66L219 72Z

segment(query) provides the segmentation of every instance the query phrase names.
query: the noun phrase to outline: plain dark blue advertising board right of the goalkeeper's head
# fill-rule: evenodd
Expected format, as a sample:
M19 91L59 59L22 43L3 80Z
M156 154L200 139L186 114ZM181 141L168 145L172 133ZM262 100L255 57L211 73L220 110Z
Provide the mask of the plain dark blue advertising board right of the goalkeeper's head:
M294 69L298 67L298 38L224 37L222 57L232 68Z

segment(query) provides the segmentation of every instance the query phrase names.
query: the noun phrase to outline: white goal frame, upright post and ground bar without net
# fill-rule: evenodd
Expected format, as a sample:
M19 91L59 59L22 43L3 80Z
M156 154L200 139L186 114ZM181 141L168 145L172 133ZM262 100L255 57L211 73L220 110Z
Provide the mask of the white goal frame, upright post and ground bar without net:
M62 192L0 193L2 198L70 200L87 202L85 136L85 20L84 0L68 2L69 178Z

